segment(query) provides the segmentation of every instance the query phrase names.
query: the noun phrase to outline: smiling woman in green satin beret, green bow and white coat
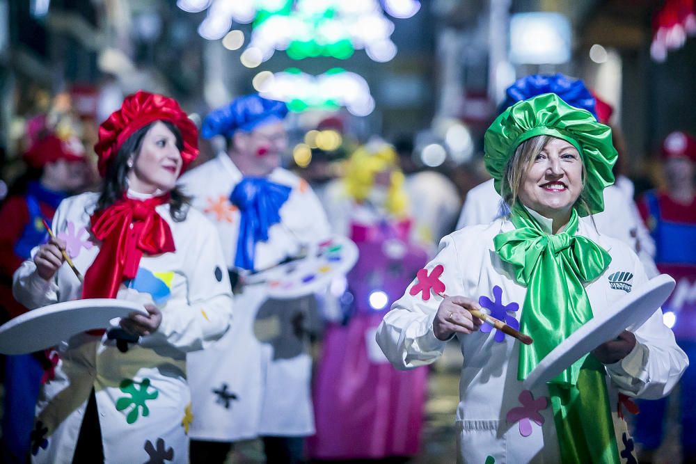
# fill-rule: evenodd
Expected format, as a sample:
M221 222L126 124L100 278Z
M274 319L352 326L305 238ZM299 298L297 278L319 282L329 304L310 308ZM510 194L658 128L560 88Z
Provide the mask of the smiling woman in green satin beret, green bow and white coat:
M457 337L459 462L635 463L619 394L663 397L688 365L661 310L553 381L522 383L593 311L647 281L630 248L578 221L603 210L602 191L614 181L611 129L549 93L498 116L485 152L509 216L445 237L384 317L377 342L395 367L411 369ZM468 311L482 308L534 343L482 326Z

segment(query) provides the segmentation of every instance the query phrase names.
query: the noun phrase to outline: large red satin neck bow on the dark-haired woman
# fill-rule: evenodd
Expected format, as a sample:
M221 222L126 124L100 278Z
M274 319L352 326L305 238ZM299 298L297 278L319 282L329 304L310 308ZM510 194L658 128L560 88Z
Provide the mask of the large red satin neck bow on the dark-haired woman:
M168 200L169 195L122 198L92 215L92 233L102 248L85 274L82 298L115 298L121 283L135 278L143 254L175 251L169 224L155 211Z

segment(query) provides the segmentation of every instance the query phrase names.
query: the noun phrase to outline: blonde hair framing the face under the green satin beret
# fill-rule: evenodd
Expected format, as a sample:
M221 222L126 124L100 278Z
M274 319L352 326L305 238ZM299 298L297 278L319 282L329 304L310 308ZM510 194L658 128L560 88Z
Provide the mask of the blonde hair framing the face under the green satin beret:
M553 136L535 136L528 138L520 143L515 149L512 157L509 157L505 165L505 173L503 179L500 180L500 196L503 197L503 202L509 210L519 201L519 192L522 189L524 177L529 172L534 163L537 154L544 150L554 137ZM580 153L580 161L583 161L583 190L580 192L578 200L576 200L574 208L582 211L585 216L590 215L590 204L585 200L585 180L587 172L585 171L585 161L583 154Z

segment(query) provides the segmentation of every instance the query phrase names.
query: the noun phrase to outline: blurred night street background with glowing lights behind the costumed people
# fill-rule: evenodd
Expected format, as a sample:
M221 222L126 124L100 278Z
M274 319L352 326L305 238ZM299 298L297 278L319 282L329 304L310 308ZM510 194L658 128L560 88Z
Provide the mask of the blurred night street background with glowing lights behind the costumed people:
M689 0L0 0L0 199L24 173L36 115L93 156L97 126L136 90L175 97L198 125L258 92L290 106L284 164L322 199L374 137L406 176L439 173L425 191L452 201L419 231L432 251L487 179L484 131L528 74L583 79L612 107L635 197L663 186L663 140L696 133L695 34ZM201 141L197 162L218 150ZM412 462L454 462L460 365L452 344L431 369ZM655 462L679 462L678 415L674 399ZM243 442L229 462L262 458Z

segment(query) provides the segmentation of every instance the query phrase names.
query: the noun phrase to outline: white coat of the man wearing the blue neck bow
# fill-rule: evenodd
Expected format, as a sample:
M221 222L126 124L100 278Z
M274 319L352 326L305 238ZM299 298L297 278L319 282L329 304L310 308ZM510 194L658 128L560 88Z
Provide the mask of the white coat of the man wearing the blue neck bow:
M255 269L273 266L299 253L303 243L329 235L324 211L305 181L281 168L268 178L291 186L292 192L280 208L280 223L269 229L269 240L256 244ZM224 153L181 179L193 205L214 220L229 269L235 267L240 214L228 198L241 180ZM212 207L216 202L218 207ZM189 357L191 438L232 442L313 434L312 360L305 337L293 330L294 318L306 317L306 308L297 301L267 301L263 285L248 285L235 294L235 308L228 334Z

